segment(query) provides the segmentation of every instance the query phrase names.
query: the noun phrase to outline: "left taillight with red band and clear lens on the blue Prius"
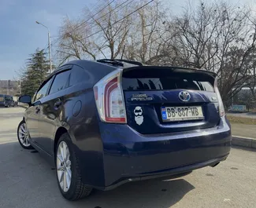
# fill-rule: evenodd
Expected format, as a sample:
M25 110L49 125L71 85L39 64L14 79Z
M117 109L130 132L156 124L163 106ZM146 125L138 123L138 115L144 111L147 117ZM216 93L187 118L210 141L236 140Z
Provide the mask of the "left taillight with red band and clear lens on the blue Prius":
M126 123L121 69L106 75L94 86L95 102L102 122Z

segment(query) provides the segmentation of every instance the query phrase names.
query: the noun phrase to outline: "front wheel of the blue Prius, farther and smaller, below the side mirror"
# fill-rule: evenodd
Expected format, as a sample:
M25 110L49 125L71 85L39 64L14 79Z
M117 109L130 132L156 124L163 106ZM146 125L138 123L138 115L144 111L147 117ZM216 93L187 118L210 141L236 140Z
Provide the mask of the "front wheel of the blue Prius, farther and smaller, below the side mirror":
M17 128L17 137L20 142L20 146L24 149L33 149L32 145L29 142L28 131L26 128L26 122L22 120Z

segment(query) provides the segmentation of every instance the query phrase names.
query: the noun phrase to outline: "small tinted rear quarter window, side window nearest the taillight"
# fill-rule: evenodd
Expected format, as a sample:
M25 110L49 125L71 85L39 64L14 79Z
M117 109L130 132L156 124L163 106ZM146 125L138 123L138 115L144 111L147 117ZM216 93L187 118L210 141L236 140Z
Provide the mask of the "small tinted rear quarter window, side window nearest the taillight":
M85 71L85 69L80 68L79 66L73 65L70 80L69 80L69 86L74 86L80 82L84 82L89 79L89 75Z

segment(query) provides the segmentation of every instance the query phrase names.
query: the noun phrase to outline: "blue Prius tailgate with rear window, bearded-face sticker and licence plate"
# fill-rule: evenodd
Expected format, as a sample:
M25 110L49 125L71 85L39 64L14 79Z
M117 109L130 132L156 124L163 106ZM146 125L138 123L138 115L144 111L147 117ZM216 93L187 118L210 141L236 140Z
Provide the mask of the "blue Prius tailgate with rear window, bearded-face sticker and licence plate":
M216 75L184 68L124 69L128 125L139 133L172 133L217 126Z

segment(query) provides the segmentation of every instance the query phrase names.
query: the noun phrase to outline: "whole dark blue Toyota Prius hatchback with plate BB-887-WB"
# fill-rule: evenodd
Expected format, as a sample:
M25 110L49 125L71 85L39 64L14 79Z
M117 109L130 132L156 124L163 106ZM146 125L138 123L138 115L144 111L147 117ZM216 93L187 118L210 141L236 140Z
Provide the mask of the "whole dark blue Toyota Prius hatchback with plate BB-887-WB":
M52 162L69 200L92 188L217 166L232 136L216 78L129 60L74 60L33 98L20 97L30 107L18 140Z

